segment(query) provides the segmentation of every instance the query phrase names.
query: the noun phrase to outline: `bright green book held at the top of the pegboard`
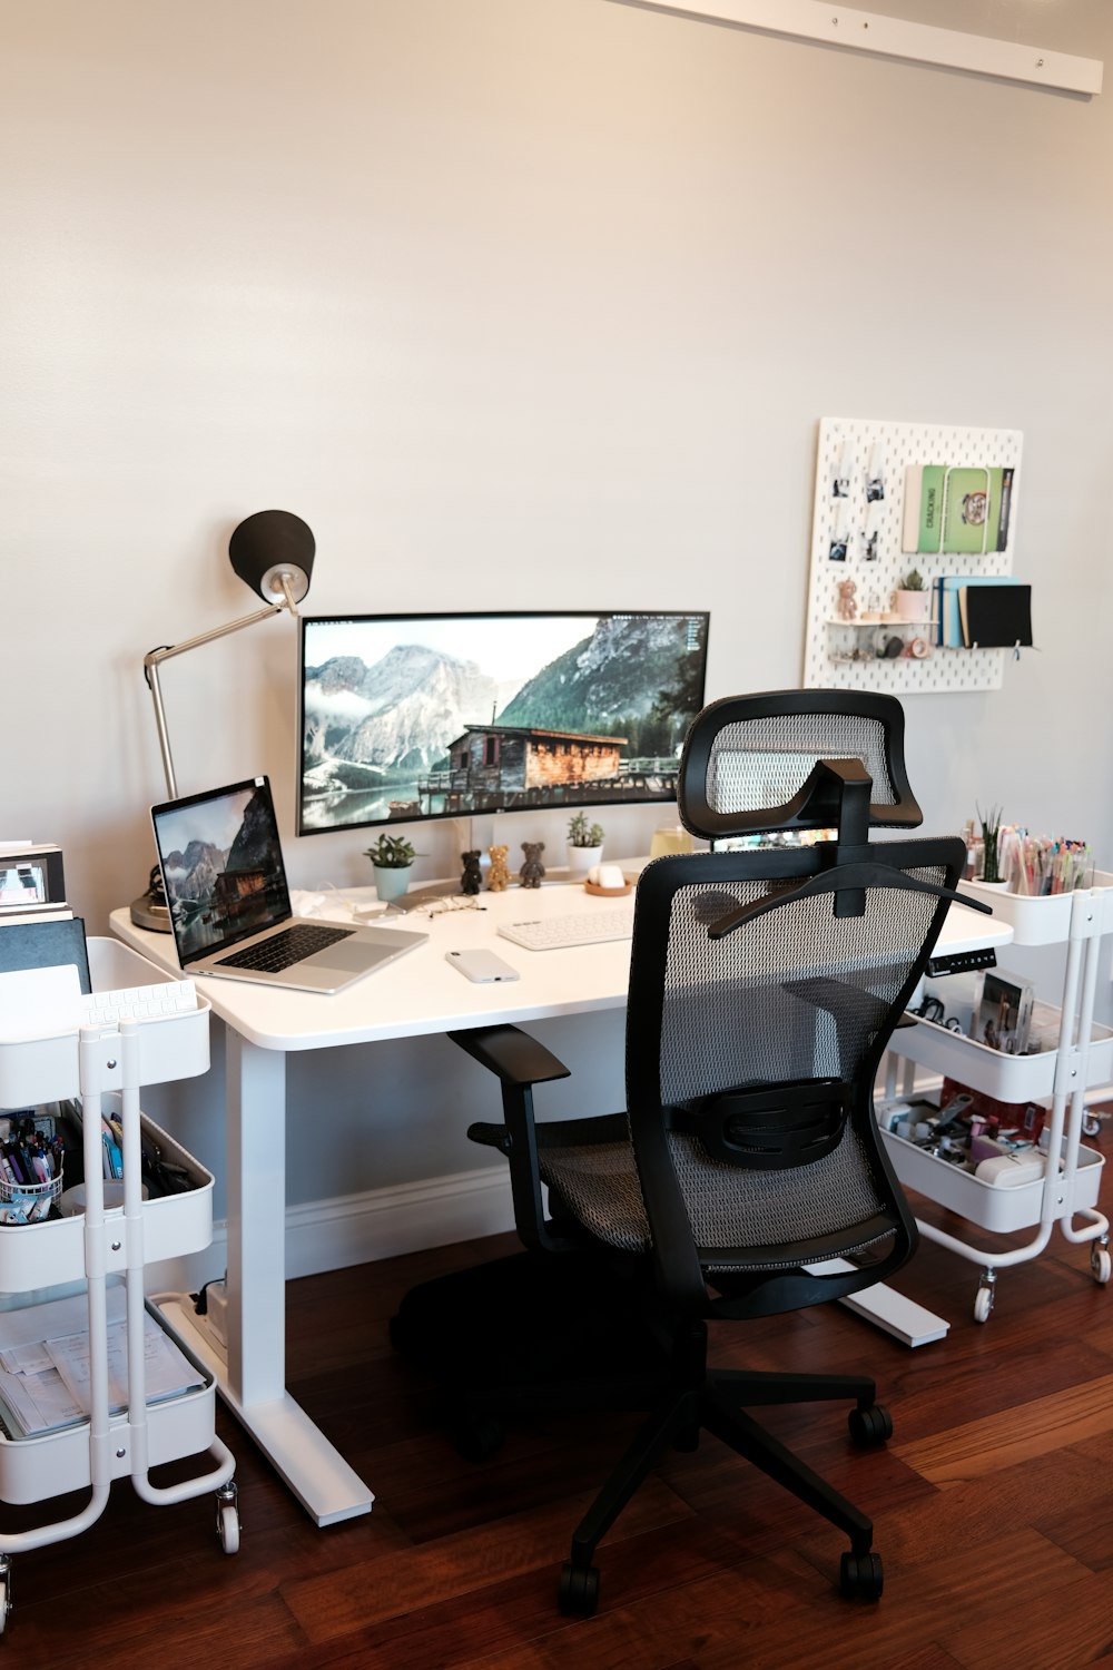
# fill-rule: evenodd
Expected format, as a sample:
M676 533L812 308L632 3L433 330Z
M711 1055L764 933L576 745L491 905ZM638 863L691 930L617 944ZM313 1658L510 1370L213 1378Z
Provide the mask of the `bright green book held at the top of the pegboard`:
M1013 478L1008 464L911 464L904 471L901 549L918 556L1005 551Z

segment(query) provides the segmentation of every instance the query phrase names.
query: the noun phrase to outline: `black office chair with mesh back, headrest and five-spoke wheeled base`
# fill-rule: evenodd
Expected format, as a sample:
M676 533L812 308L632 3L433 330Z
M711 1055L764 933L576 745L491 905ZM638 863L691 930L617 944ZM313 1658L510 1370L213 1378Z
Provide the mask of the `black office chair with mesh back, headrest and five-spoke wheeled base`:
M574 1261L604 1318L597 1336L607 1316L617 1326L639 1314L661 1348L641 1354L626 1383L624 1364L607 1361L594 1386L586 1369L569 1379L531 1364L517 1383L501 1366L486 1384L481 1373L456 1388L474 1416L546 1403L651 1409L572 1536L564 1612L596 1610L599 1540L664 1450L694 1448L701 1430L849 1535L846 1595L881 1593L871 1521L746 1413L853 1399L851 1438L881 1443L891 1421L873 1381L719 1371L706 1351L708 1319L856 1293L916 1244L876 1132L873 1080L966 852L959 838L868 842L871 825L919 822L901 726L896 700L841 691L739 696L699 715L679 793L694 833L721 842L831 828L836 838L644 870L624 1114L536 1122L532 1087L567 1069L516 1027L452 1034L502 1082L504 1122L469 1136L509 1159L519 1236L532 1249L526 1279ZM415 1318L421 1331L421 1308ZM409 1323L402 1313L402 1344L414 1338ZM487 1440L474 1431L477 1450L497 1441L494 1430Z

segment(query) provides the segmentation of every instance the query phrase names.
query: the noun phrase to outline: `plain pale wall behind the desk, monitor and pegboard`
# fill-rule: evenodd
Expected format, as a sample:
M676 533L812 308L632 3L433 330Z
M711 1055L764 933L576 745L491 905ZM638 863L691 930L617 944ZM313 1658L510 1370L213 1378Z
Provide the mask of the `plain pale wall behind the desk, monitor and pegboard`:
M1103 0L884 10L1113 58ZM1040 653L909 698L911 778L928 828L1000 802L1113 867L1113 92L609 0L0 0L0 833L62 842L93 932L152 862L142 655L252 608L244 516L309 521L317 613L699 606L709 695L796 685L823 414L1025 431ZM269 621L165 668L179 783L269 772L294 883L364 880L365 835L292 835L294 661ZM617 1022L587 1042L611 1099ZM357 1137L389 1082L390 1134L344 1141L359 1186L414 1122L474 1162L449 1047L417 1054L295 1077ZM212 1099L192 1117L215 1146Z

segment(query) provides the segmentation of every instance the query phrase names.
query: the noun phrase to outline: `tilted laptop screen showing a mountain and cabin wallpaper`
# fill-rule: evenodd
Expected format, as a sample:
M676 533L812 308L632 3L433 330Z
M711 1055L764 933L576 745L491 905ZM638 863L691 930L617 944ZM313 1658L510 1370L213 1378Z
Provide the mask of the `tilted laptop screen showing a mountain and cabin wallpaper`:
M182 967L289 920L265 777L170 800L150 818Z

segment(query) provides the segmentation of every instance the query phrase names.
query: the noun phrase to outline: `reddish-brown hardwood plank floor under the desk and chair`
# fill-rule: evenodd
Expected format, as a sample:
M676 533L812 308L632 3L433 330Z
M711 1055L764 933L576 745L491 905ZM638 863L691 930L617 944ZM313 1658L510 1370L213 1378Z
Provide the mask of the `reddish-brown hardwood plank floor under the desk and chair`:
M1113 1202L1113 1186L1106 1194ZM718 1361L876 1376L896 1423L888 1448L853 1451L836 1408L779 1411L776 1430L874 1518L879 1603L839 1598L839 1533L704 1440L696 1455L671 1453L611 1531L597 1617L566 1620L556 1576L567 1538L631 1421L521 1425L474 1466L387 1341L414 1281L507 1244L290 1284L290 1386L377 1493L370 1516L317 1530L220 1411L240 1553L220 1551L209 1496L152 1508L115 1485L83 1536L18 1556L0 1652L52 1670L1113 1660L1113 1291L1091 1281L1086 1249L1056 1231L1050 1252L1001 1273L996 1311L978 1326L975 1266L924 1242L899 1286L951 1333L918 1351L839 1306L716 1333ZM15 1523L7 1510L5 1528Z

